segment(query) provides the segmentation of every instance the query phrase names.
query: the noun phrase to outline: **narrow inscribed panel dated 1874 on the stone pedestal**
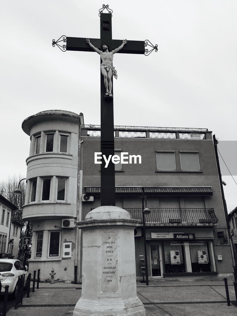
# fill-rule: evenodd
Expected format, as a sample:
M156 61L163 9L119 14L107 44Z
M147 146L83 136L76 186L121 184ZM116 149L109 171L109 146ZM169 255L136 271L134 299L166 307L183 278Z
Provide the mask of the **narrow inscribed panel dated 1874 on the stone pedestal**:
M107 231L101 238L101 291L118 291L118 232Z

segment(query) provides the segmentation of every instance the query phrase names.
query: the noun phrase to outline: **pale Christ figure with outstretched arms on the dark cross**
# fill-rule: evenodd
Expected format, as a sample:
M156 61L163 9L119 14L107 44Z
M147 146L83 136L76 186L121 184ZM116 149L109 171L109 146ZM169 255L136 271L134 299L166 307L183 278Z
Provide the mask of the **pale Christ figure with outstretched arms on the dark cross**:
M102 64L100 65L100 71L102 75L104 76L104 83L106 88L106 96L112 97L112 76L114 76L115 79L118 78L117 71L114 67L112 67L113 62L113 55L117 52L119 52L124 45L127 43L127 40L123 40L122 45L120 45L118 48L115 48L114 50L110 51L109 46L104 43L101 46L101 50L94 47L94 45L91 44L89 39L86 39L86 42L89 44L89 46L94 49L95 52L100 54L100 58L102 59Z

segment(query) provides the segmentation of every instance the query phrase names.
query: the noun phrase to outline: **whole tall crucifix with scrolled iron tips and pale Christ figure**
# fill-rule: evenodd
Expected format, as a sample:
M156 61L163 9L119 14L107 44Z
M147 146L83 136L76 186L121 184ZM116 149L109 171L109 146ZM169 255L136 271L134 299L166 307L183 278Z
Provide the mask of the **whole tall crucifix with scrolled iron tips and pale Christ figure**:
M107 13L103 11L107 10ZM113 123L113 89L112 59L108 59L108 48L112 48L112 55L115 52L127 54L145 54L149 55L153 50L157 52L157 45L153 46L149 40L113 40L112 39L112 10L109 5L104 5L99 10L100 16L100 39L88 39L82 37L61 36L57 41L52 41L52 46L58 46L65 51L84 51L97 52L100 54L100 148L102 155L108 159L109 155L114 155L114 123ZM66 45L60 45L61 42ZM105 46L106 47L105 47ZM104 46L104 47L102 47ZM150 46L151 49L145 49ZM106 52L107 57L103 55ZM110 54L111 55L111 54ZM99 67L98 67L99 71ZM117 74L115 72L115 74ZM116 76L115 76L116 78ZM108 81L108 82L106 82ZM107 85L106 85L107 84ZM100 201L101 206L115 206L115 172L114 164L110 160L108 167L105 168L105 160L102 159L100 180Z

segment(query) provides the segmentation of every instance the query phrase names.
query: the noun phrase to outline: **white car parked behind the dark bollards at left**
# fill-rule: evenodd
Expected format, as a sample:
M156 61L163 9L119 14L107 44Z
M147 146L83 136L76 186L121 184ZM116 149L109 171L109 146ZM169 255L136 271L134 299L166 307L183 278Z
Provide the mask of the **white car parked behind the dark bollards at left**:
M4 287L9 285L8 293L10 297L15 299L18 287L18 276L21 277L22 275L25 275L24 289L27 289L27 265L24 267L21 261L16 259L0 259L0 281L2 283L1 294L4 294L5 292Z

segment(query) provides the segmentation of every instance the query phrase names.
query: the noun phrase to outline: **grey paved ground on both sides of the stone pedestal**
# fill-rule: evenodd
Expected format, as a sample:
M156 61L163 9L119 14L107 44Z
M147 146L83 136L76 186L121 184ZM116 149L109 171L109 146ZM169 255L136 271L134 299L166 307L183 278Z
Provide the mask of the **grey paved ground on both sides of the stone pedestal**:
M137 283L137 296L146 316L236 316L237 305L233 282L228 283L231 306L227 306L223 281ZM40 288L23 298L23 304L10 308L7 316L66 316L73 314L81 296L81 284L40 283Z

